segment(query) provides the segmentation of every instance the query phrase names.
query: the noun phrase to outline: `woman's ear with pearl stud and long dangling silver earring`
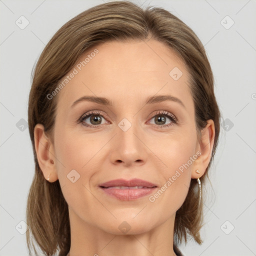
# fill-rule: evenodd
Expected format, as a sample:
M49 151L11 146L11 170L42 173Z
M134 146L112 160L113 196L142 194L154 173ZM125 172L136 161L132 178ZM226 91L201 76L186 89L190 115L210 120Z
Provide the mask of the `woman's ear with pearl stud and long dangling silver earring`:
M201 154L197 157L193 164L193 170L191 172L191 178L201 177L210 161L211 152L214 143L215 129L213 120L207 120L206 126L201 130L201 137L199 138L197 144L197 151ZM200 173L196 173L195 170L198 169Z

